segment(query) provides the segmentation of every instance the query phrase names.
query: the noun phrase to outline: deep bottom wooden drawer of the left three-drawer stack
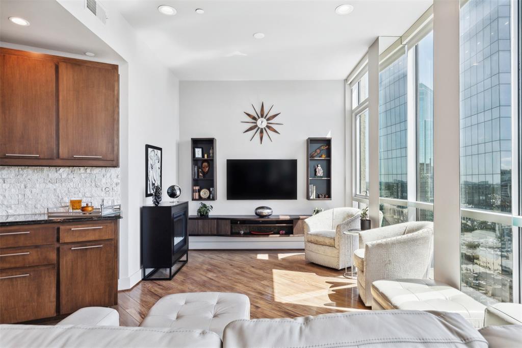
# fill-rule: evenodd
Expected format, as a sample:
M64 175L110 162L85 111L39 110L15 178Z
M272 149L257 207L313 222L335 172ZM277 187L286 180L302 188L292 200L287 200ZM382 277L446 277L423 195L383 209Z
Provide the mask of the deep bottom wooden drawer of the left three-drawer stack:
M56 266L0 271L0 322L56 316Z

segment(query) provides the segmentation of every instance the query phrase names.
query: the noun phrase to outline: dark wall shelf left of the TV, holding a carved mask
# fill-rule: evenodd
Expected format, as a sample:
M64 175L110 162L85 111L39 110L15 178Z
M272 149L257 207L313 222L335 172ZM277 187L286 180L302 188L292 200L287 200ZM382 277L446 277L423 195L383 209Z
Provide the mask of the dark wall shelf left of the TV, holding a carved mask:
M196 158L195 157L195 148L200 147L203 148L203 156L207 154L208 158ZM210 156L210 149L212 149L212 156ZM192 166L191 166L191 178L192 178L192 187L198 186L199 192L203 189L213 189L212 198L203 199L201 195L199 198L194 198L194 194L192 194L193 201L215 201L217 197L217 168L216 168L216 138L191 138L191 158L192 158ZM201 164L203 161L207 160L210 164L210 169L207 175L203 176L203 179L199 178L199 169L201 169ZM197 167L196 176L194 176L194 166Z

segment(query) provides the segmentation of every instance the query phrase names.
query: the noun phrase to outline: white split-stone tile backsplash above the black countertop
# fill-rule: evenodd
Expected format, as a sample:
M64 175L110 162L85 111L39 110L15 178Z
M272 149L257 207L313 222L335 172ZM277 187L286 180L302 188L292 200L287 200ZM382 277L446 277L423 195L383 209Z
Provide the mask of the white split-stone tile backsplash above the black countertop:
M0 167L0 215L44 213L81 198L120 203L120 168Z

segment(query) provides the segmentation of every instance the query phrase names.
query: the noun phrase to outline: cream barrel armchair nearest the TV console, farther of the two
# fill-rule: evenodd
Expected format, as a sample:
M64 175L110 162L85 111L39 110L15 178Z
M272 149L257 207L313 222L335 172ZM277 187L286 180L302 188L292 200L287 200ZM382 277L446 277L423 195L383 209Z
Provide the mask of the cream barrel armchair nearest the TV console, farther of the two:
M351 264L345 260L342 232L360 228L361 211L357 208L329 209L304 221L304 256L307 261L340 270Z

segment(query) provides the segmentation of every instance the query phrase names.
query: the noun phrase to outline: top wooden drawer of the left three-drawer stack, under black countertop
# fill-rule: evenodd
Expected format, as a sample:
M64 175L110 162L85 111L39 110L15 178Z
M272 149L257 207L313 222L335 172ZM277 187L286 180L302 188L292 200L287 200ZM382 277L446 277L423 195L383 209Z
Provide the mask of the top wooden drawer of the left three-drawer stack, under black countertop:
M19 225L0 227L0 248L26 247L56 243L56 227Z

